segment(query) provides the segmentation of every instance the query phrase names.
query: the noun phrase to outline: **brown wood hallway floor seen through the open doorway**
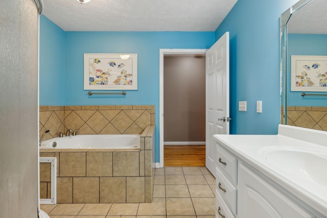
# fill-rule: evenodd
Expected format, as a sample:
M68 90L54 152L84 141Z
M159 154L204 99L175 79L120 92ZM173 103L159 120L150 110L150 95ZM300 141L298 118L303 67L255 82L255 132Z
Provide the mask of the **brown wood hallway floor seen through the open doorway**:
M164 166L205 166L205 146L164 146Z

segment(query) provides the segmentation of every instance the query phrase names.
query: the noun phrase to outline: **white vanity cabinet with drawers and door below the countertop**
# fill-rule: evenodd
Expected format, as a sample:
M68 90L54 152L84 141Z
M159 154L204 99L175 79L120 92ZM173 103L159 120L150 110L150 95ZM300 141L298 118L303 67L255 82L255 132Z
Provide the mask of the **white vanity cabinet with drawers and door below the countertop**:
M216 142L216 218L316 217Z

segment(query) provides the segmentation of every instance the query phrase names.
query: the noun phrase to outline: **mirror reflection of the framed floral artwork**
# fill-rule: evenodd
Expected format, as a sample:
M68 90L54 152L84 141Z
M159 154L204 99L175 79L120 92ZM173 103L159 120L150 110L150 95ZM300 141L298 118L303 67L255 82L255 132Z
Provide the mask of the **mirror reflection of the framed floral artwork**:
M291 56L291 91L327 91L327 56Z

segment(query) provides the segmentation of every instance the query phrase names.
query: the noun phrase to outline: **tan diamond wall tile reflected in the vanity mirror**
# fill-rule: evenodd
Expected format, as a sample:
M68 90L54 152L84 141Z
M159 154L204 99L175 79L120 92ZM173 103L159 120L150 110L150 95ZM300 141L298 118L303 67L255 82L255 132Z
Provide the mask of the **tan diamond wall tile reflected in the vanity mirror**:
M281 108L282 117L284 107ZM284 124L283 119L281 124ZM315 130L327 131L327 107L288 106L287 124Z

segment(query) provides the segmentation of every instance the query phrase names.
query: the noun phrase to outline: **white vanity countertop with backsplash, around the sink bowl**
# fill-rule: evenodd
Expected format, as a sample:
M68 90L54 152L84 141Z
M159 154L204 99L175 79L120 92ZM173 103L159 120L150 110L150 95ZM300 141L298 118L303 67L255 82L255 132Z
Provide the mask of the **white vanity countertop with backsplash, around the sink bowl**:
M317 182L309 175L294 174L265 157L267 151L284 149L308 151L327 159L327 132L279 125L277 135L214 135L214 139L298 199L327 215L327 183ZM327 174L327 164L320 167Z

